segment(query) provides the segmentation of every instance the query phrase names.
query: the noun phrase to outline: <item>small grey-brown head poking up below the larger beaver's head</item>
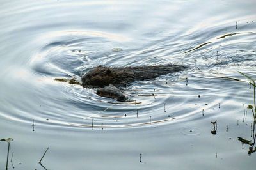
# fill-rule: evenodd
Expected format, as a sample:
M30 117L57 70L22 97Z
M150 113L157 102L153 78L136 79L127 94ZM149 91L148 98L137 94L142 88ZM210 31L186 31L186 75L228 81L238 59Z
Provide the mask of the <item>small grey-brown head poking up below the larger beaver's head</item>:
M104 88L97 89L97 95L113 98L121 102L127 100L127 97L120 91L120 89L116 88L112 84L109 84L109 86L105 86Z

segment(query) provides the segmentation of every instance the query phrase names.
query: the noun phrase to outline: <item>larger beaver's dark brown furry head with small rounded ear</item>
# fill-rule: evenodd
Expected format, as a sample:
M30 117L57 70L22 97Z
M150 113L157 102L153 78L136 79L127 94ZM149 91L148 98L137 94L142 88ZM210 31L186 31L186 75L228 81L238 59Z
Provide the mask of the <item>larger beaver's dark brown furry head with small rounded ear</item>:
M106 68L103 66L98 66L86 73L82 77L82 82L84 87L99 88L108 86L110 84L110 79L112 76L111 68Z

